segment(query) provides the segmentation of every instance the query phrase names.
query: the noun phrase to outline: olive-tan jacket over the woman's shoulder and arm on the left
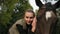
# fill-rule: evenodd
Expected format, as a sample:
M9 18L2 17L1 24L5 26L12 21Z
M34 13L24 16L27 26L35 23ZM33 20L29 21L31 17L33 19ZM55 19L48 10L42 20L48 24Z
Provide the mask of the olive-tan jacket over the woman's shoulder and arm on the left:
M20 34L17 27L16 27L16 24L20 24L23 26L23 29L26 29L26 23L25 23L25 20L24 19L20 19L20 20L17 20L16 23L14 23L12 25L12 27L9 29L9 34Z

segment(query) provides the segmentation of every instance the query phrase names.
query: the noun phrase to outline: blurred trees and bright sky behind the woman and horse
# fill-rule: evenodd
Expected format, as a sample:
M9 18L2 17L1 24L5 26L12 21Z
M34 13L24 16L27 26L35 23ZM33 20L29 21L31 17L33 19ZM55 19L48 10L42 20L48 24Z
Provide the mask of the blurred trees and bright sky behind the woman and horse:
M42 3L49 1L56 3L58 0L43 0ZM9 28L23 18L26 9L32 9L37 15L39 7L36 6L35 0L0 0L0 34L7 34ZM54 33L60 34L60 8L56 10L58 23Z

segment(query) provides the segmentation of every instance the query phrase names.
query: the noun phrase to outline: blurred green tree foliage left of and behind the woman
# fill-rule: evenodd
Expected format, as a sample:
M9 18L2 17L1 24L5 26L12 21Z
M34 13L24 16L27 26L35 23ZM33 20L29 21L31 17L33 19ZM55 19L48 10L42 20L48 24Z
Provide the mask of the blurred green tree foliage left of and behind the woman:
M16 20L23 18L26 9L32 9L28 0L0 1L0 34L7 34Z

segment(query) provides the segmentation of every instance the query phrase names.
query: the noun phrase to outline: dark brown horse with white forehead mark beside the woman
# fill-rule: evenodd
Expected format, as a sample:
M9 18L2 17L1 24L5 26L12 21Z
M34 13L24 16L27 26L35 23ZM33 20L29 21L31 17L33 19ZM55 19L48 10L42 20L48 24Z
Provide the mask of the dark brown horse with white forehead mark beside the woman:
M60 7L60 0L53 5L50 2L42 4L40 0L35 2L39 7L35 34L53 34L58 20L56 9Z

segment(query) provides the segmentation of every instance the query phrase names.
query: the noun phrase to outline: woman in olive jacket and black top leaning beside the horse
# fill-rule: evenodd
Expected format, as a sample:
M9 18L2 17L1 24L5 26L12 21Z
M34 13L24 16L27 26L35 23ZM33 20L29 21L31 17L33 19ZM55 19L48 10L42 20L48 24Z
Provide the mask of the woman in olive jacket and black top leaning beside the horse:
M34 34L36 22L34 12L32 10L26 10L24 18L13 24L9 29L9 34Z

